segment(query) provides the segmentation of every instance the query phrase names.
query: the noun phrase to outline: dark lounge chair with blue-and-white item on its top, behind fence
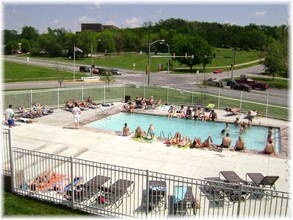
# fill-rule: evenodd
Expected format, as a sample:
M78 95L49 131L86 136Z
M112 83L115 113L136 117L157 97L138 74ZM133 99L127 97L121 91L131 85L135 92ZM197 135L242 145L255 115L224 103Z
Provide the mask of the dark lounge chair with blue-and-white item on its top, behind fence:
M167 208L167 183L161 180L149 181L149 210L161 211Z

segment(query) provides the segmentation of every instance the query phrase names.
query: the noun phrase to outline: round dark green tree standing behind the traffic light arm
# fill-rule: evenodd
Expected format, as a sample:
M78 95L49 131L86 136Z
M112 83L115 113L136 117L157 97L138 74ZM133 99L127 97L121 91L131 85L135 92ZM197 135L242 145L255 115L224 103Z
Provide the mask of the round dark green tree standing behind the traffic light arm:
M175 58L180 64L189 66L192 70L192 66L198 64L207 64L212 59L212 47L204 40L196 36L178 34L173 39L172 50L176 56L188 56L191 57L177 57Z

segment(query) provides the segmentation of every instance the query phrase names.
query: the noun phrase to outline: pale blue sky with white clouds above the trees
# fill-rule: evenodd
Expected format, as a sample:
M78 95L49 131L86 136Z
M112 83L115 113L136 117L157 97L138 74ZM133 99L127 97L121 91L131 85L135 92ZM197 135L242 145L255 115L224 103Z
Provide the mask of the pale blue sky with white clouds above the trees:
M160 3L158 3L160 2ZM288 24L289 0L237 1L14 1L2 0L2 25L4 29L16 30L19 34L24 26L32 26L39 33L51 29L65 28L67 31L81 30L81 23L101 23L118 28L142 27L169 18L187 21L217 22L245 26L279 26Z

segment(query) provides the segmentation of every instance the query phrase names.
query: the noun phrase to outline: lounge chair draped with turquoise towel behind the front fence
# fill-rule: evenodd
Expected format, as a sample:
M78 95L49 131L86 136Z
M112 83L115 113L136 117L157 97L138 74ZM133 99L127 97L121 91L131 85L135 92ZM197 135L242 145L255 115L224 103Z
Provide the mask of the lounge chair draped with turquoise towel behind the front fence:
M174 186L174 215L186 215L190 210L190 215L196 215L196 199L192 193L191 186Z

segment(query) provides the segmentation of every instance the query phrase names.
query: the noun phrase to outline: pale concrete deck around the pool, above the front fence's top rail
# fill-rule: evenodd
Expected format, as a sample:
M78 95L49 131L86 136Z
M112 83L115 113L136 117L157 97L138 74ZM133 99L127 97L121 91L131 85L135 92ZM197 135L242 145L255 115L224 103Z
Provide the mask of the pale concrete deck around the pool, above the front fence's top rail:
M101 109L122 109L122 103L82 111L81 121L86 123ZM148 113L164 114L160 110ZM216 110L219 121L233 122L236 116L227 116L226 111ZM244 114L239 115L243 120ZM257 117L253 123L280 127L282 130L282 154L276 157L256 153L234 152L224 149L216 151L202 149L181 149L166 147L162 141L142 143L130 137L119 136L81 127L72 129L72 114L64 109L56 109L51 115L37 118L33 124L22 124L12 128L12 143L15 147L37 150L101 163L148 169L162 173L203 179L218 176L220 171L233 170L245 179L249 172L263 175L277 175L276 189L290 192L290 122ZM287 128L287 129L286 129ZM113 130L121 130L117 125Z

